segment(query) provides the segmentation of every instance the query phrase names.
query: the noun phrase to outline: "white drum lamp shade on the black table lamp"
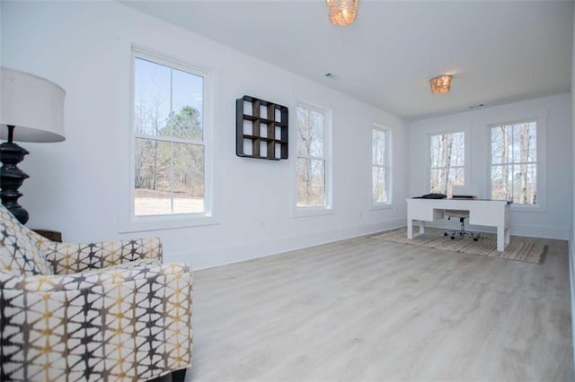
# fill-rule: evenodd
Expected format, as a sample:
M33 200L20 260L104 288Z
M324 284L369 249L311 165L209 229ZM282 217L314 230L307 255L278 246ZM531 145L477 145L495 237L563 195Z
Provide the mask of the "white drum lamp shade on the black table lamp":
M0 139L7 139L7 125L15 126L14 141L60 142L66 139L64 89L44 78L4 67L0 67L0 87Z

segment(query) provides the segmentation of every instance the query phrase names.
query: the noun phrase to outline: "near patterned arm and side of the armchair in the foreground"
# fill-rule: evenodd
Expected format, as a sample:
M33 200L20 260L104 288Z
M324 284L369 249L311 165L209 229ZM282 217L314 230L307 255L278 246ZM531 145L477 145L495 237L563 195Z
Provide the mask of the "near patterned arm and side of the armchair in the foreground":
M190 366L191 269L136 265L66 275L0 271L2 380L140 381Z

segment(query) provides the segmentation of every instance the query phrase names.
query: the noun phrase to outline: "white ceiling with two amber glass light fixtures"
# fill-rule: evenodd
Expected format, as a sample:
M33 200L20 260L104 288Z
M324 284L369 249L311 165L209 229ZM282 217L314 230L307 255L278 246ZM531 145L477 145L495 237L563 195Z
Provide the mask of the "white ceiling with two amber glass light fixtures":
M571 90L571 1L360 0L348 27L323 0L121 3L407 120Z

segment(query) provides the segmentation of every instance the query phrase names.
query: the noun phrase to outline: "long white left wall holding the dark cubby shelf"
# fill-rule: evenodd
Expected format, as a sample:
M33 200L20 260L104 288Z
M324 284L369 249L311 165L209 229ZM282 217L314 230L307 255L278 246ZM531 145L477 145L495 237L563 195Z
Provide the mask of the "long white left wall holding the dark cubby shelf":
M31 175L21 190L30 227L61 230L67 241L164 240L167 260L196 268L266 256L404 223L406 130L401 119L208 39L111 2L3 2L2 64L66 89L66 141L23 143ZM128 163L130 44L217 71L217 225L120 234L119 174ZM297 100L333 110L330 215L293 218L290 160L238 158L234 101L244 94L290 108ZM393 129L394 205L372 211L371 123Z

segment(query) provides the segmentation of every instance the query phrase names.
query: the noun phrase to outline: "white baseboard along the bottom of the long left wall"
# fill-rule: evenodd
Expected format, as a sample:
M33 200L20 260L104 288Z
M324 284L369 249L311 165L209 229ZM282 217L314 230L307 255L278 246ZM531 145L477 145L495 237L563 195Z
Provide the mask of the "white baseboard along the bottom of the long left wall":
M405 219L394 219L359 226L344 227L337 230L316 231L305 235L243 243L240 245L211 247L190 252L164 253L164 261L178 261L190 264L194 269L211 268L264 256L314 247L333 241L356 238L382 230L392 230L405 225Z

